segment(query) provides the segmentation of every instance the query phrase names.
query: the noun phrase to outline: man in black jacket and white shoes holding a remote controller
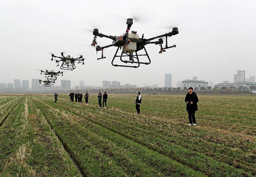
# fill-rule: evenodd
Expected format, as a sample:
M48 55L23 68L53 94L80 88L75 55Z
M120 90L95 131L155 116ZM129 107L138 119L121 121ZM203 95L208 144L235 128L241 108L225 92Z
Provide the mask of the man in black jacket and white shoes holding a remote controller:
M198 102L198 97L195 92L193 92L193 88L189 87L188 88L188 94L185 97L185 103L187 104L186 110L188 111L188 120L189 120L189 126L196 125L196 118L195 118L195 113L197 111L197 102Z

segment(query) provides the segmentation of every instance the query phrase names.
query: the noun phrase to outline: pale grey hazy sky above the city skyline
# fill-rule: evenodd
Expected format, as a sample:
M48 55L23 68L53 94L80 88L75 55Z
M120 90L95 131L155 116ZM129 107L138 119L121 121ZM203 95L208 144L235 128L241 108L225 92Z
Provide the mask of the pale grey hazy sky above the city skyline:
M116 47L107 49L106 59L97 61L92 32L99 28L106 35L122 35L126 19L140 17L131 30L145 38L161 35L178 27L179 34L168 38L176 48L158 54L159 45L148 44L150 65L139 68L114 67L111 60ZM172 85L192 79L233 82L237 70L246 70L245 77L256 76L256 1L13 1L0 2L0 83L13 79L44 79L36 69L54 69L52 52L88 58L85 65L76 64L61 79L80 80L85 85L102 86L103 80L121 84L164 86L164 74L172 73ZM100 46L112 43L97 38ZM145 60L145 59L144 59ZM143 58L140 59L143 61ZM65 71L65 70L63 70Z

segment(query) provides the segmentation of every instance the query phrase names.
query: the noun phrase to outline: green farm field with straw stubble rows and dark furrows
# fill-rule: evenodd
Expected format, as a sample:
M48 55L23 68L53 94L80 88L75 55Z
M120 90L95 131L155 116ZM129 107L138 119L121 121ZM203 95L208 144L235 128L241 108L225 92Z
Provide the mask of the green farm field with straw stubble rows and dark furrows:
M0 176L256 176L256 96L0 95Z

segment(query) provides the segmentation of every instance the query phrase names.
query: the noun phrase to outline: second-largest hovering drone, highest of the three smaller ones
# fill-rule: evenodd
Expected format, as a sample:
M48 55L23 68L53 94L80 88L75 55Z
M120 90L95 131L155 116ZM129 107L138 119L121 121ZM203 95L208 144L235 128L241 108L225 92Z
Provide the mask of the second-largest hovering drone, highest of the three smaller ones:
M73 57L71 58L70 55L65 57L63 55L63 52L61 52L61 57L57 57L54 54L52 54L51 61L53 60L53 57L54 58L60 58L60 60L56 60L56 63L58 63L57 66L59 66L59 62L62 61L60 69L71 70L71 71L76 69L75 61L78 61L78 63L82 63L83 62L82 65L84 65L84 58L83 58L82 55L80 57L77 57L77 58L73 58Z

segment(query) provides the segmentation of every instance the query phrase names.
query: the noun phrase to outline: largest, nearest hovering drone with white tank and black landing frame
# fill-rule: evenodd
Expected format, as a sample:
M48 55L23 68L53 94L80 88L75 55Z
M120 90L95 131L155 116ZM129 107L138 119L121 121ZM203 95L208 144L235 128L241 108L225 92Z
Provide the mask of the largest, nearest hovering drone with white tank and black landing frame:
M103 47L96 46L96 53L98 51L102 51L101 58L97 58L97 60L106 58L106 57L103 56L103 49L106 49L106 48L111 47L111 46L115 46L115 47L117 47L117 50L116 50L114 58L112 59L112 62L111 62L111 64L113 66L123 66L123 67L138 68L140 66L140 64L148 65L148 64L151 63L151 60L150 60L150 58L148 56L148 52L147 52L147 50L145 48L146 44L156 44L156 45L159 45L160 46L159 53L166 52L166 49L169 49L169 48L172 48L172 47L176 47L176 45L168 46L168 44L167 44L167 37L171 37L172 35L179 34L179 30L178 30L177 27L172 28L172 32L165 33L163 35L159 35L159 36L155 36L155 37L146 39L146 38L144 38L144 34L140 38L139 35L137 34L137 31L132 31L131 33L129 32L130 28L131 28L131 26L133 24L133 19L127 19L126 24L127 24L126 32L125 32L124 35L120 35L120 36L104 35L102 33L99 33L98 29L93 29L92 34L94 35L94 37L93 37L91 46L97 45L97 41L96 41L97 36L99 36L99 37L107 37L107 38L113 40L112 44L110 44L110 45L103 46ZM165 37L165 47L163 47L163 45L162 45L164 43L164 41L163 41L163 39L161 37ZM157 38L160 38L160 39L158 39L158 41L152 41L152 40L157 39ZM118 50L121 50L121 49L122 49L121 55L117 55ZM137 52L139 50L145 50L145 54L138 55ZM139 61L139 56L147 56L148 62L140 62ZM113 62L114 62L116 57L120 57L120 60L122 62L126 63L126 64L127 63L131 63L131 64L137 63L138 65L134 66L134 65L117 65L117 64L113 64ZM129 60L123 60L122 59L123 57L129 57Z

